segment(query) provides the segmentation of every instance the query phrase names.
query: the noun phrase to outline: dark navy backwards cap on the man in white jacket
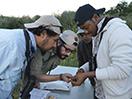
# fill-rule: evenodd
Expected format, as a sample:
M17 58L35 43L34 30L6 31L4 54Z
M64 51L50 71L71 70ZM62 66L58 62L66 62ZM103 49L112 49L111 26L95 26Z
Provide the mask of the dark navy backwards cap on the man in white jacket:
M90 4L83 5L78 8L75 14L75 22L78 26L85 23L87 20L90 20L94 14L103 14L105 8L95 9Z

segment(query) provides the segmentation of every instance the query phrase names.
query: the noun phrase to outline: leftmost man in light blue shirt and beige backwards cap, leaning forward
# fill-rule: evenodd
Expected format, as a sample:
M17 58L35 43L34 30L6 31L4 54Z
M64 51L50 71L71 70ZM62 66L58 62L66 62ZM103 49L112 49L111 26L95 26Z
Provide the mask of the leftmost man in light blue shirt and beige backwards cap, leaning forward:
M48 15L24 26L25 29L0 29L0 99L12 98L37 47L42 52L56 47L62 27L56 17Z

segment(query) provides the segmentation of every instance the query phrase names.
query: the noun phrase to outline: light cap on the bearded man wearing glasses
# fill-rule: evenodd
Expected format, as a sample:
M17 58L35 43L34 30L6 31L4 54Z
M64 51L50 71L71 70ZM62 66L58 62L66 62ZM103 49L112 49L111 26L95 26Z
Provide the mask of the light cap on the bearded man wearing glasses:
M60 38L73 50L79 43L77 34L71 30L65 30L62 34L60 34Z

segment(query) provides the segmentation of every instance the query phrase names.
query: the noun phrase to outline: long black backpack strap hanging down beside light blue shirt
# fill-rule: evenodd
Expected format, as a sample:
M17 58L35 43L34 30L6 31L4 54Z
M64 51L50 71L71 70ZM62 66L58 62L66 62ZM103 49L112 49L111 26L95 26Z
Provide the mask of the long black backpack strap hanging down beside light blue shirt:
M23 86L23 89L21 91L21 99L29 99L30 98L30 91L33 89L35 82L36 82L36 77L30 74L30 64L31 64L31 60L32 60L32 43L31 43L31 39L29 36L29 33L27 32L27 30L23 30L24 31L24 36L25 36L25 41L26 41L26 51L25 51L25 56L27 59L27 66L24 72L24 77L27 77L27 82L26 85Z

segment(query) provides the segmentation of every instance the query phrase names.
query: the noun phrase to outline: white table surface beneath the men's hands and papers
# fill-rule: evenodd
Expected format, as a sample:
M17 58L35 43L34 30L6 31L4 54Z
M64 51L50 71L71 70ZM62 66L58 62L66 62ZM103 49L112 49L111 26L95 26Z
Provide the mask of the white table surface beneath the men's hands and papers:
M57 66L51 74L71 73L76 74L78 68ZM81 86L72 87L70 92L52 91L57 99L93 99L93 88L88 79Z

